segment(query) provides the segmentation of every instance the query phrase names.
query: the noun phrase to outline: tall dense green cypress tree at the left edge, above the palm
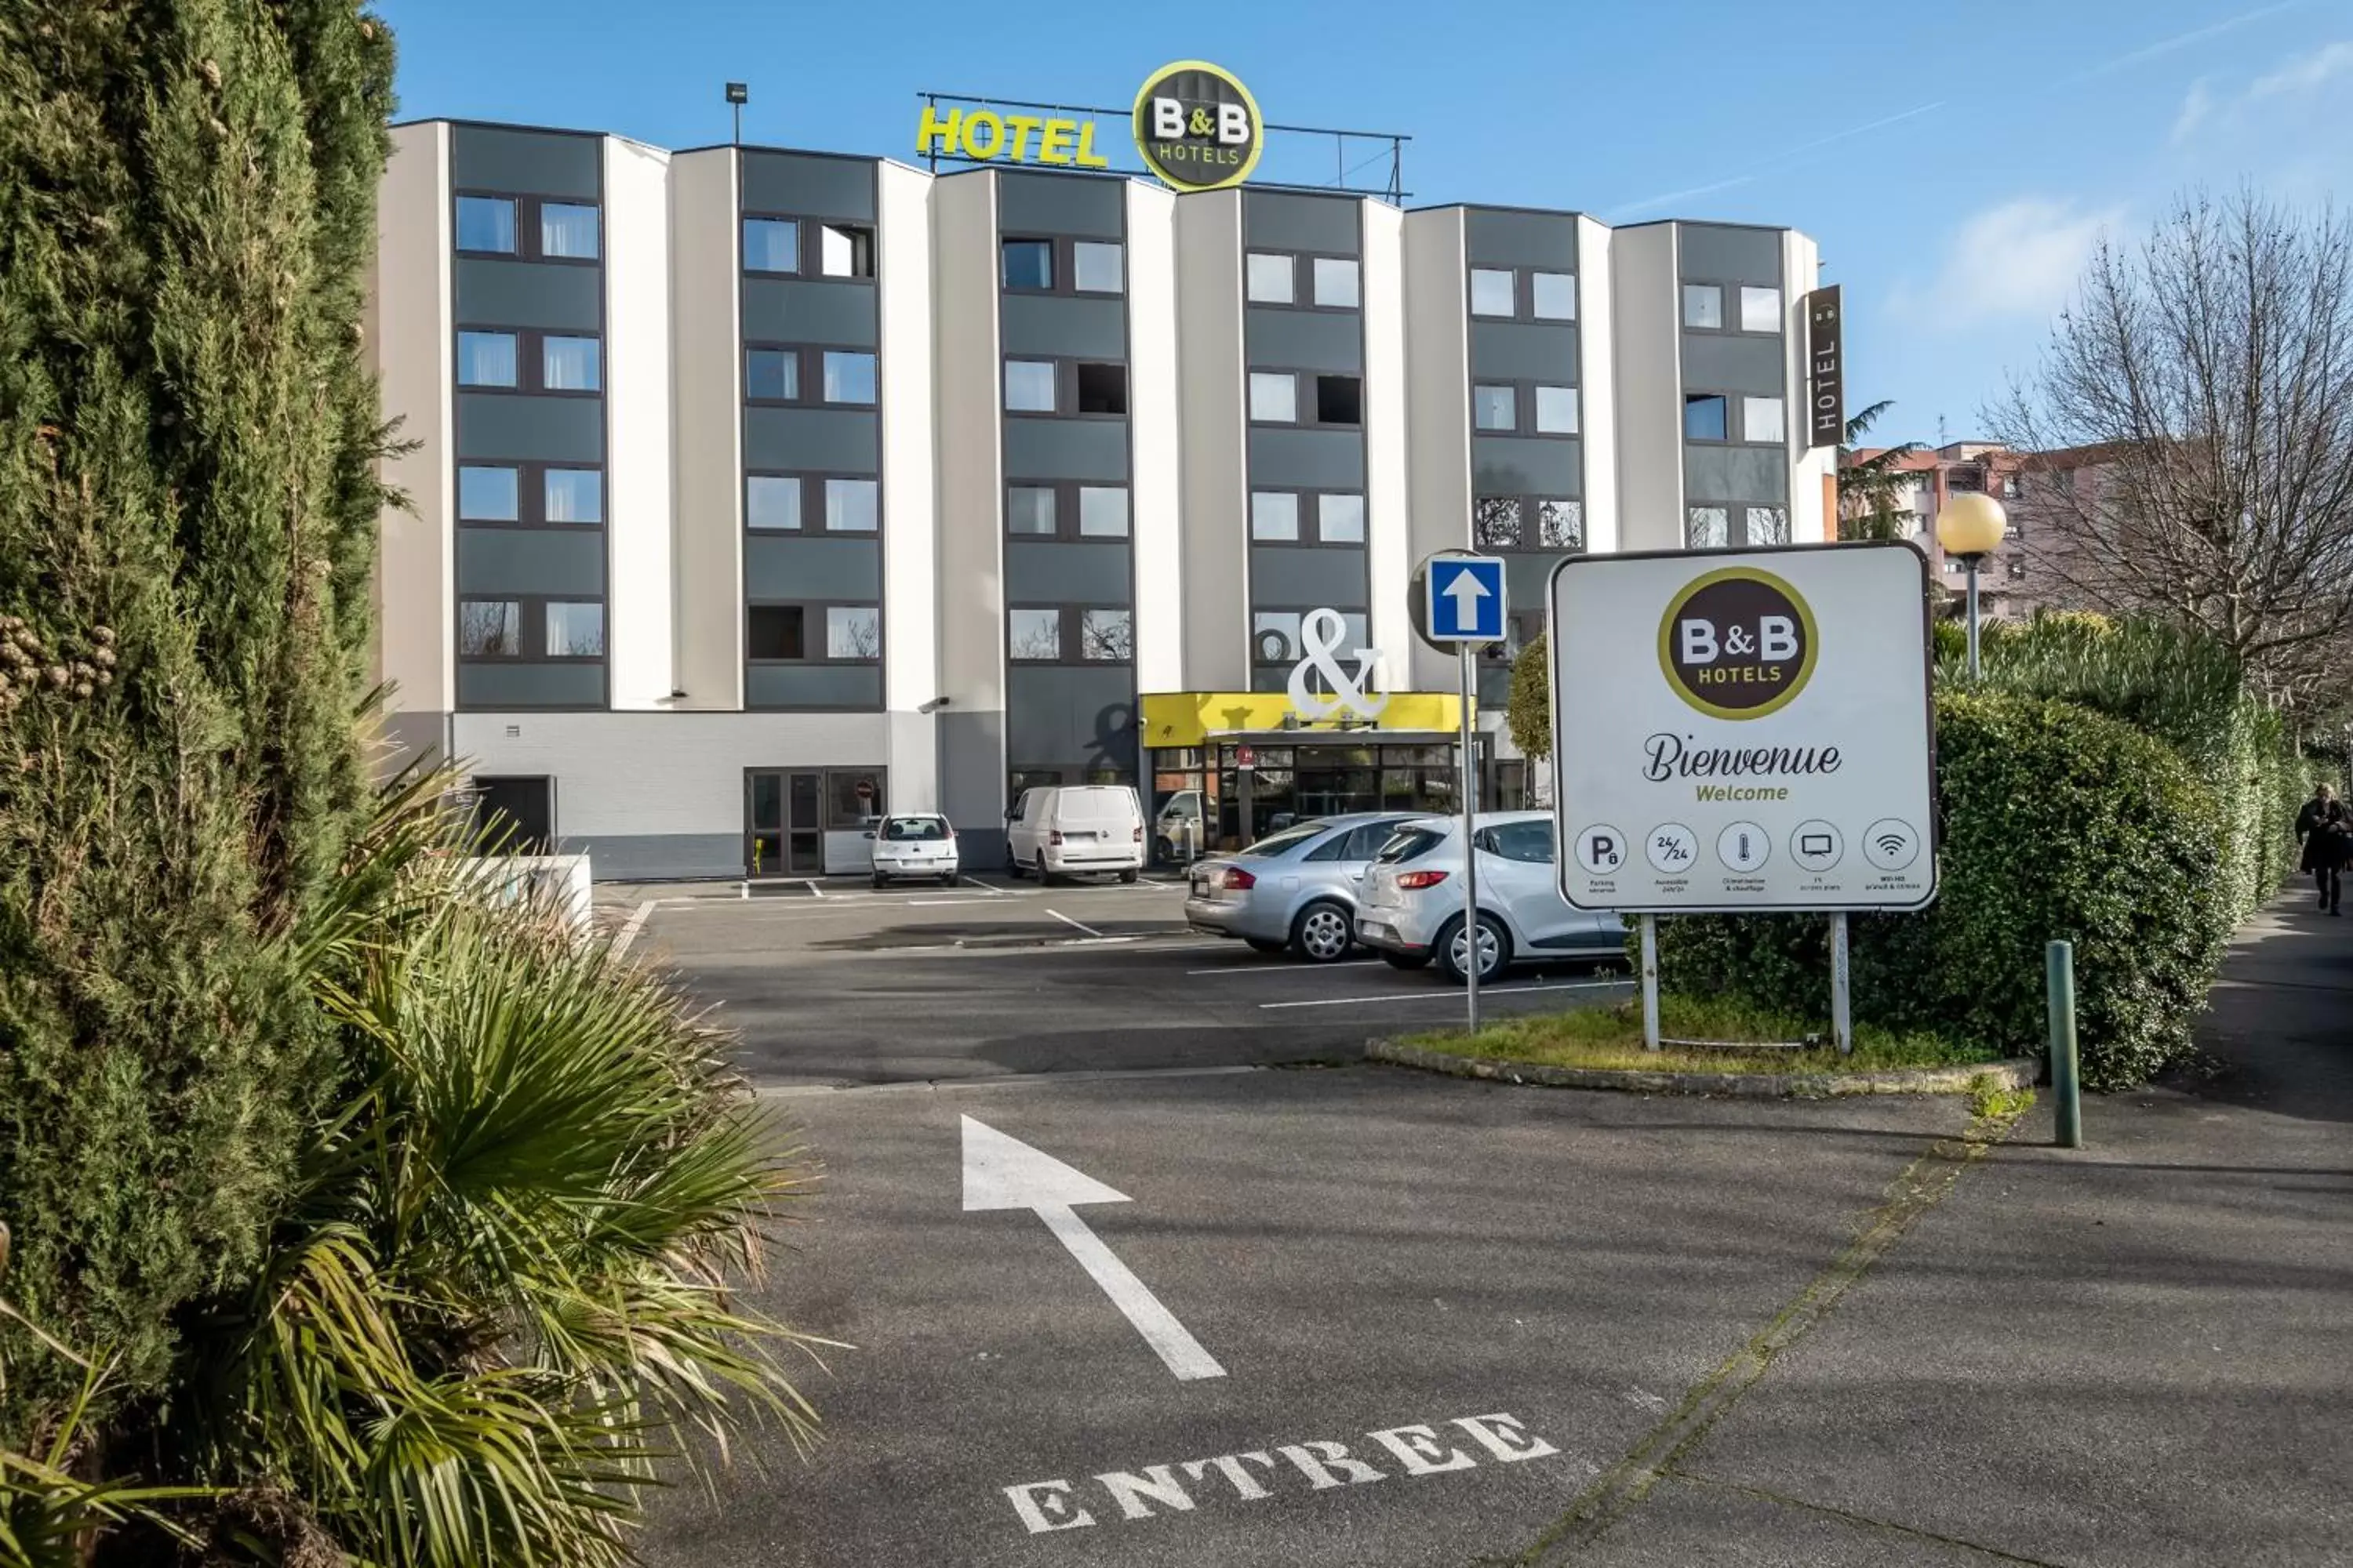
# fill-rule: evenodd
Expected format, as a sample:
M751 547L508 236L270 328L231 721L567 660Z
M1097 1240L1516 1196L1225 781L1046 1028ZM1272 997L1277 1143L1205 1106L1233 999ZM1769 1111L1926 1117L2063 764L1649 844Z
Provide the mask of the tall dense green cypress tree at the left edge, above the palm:
M391 35L0 0L0 1295L162 1385L332 1039L287 931L365 795ZM0 1321L0 1441L78 1378Z

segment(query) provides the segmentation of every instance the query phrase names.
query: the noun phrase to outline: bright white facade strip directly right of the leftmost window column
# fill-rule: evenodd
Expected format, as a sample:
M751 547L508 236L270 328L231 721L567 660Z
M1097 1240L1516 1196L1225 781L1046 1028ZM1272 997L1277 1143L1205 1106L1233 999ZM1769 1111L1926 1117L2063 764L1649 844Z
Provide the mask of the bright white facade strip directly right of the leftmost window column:
M671 604L671 155L605 136L605 663L612 705L666 705Z

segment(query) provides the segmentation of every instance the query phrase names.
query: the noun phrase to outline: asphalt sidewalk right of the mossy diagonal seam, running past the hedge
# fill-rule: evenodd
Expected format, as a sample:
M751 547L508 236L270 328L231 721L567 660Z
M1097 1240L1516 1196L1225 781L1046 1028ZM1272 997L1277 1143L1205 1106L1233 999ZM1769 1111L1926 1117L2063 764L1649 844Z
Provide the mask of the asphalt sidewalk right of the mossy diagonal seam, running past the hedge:
M2049 1105L1560 1561L2353 1563L2353 919L2233 945L2221 1074Z

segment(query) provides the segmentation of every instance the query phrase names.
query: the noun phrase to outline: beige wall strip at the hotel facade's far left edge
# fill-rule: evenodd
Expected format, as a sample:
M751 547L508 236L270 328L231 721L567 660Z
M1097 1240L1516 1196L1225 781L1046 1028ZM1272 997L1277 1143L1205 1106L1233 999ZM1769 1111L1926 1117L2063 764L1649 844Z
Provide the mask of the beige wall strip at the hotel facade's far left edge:
M376 665L398 686L393 712L456 705L449 289L449 125L400 125L376 190L367 334L384 411L400 418L398 440L416 442L381 463L384 482L409 496L409 510L376 520Z

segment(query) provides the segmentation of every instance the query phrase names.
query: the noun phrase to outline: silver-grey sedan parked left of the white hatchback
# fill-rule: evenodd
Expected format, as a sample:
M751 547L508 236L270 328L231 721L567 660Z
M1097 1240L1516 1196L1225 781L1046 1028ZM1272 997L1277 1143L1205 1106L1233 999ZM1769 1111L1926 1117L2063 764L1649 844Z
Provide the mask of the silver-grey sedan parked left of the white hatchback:
M1311 818L1238 853L1195 860L1184 919L1259 952L1289 950L1308 964L1334 964L1355 945L1365 867L1407 820L1395 811Z

